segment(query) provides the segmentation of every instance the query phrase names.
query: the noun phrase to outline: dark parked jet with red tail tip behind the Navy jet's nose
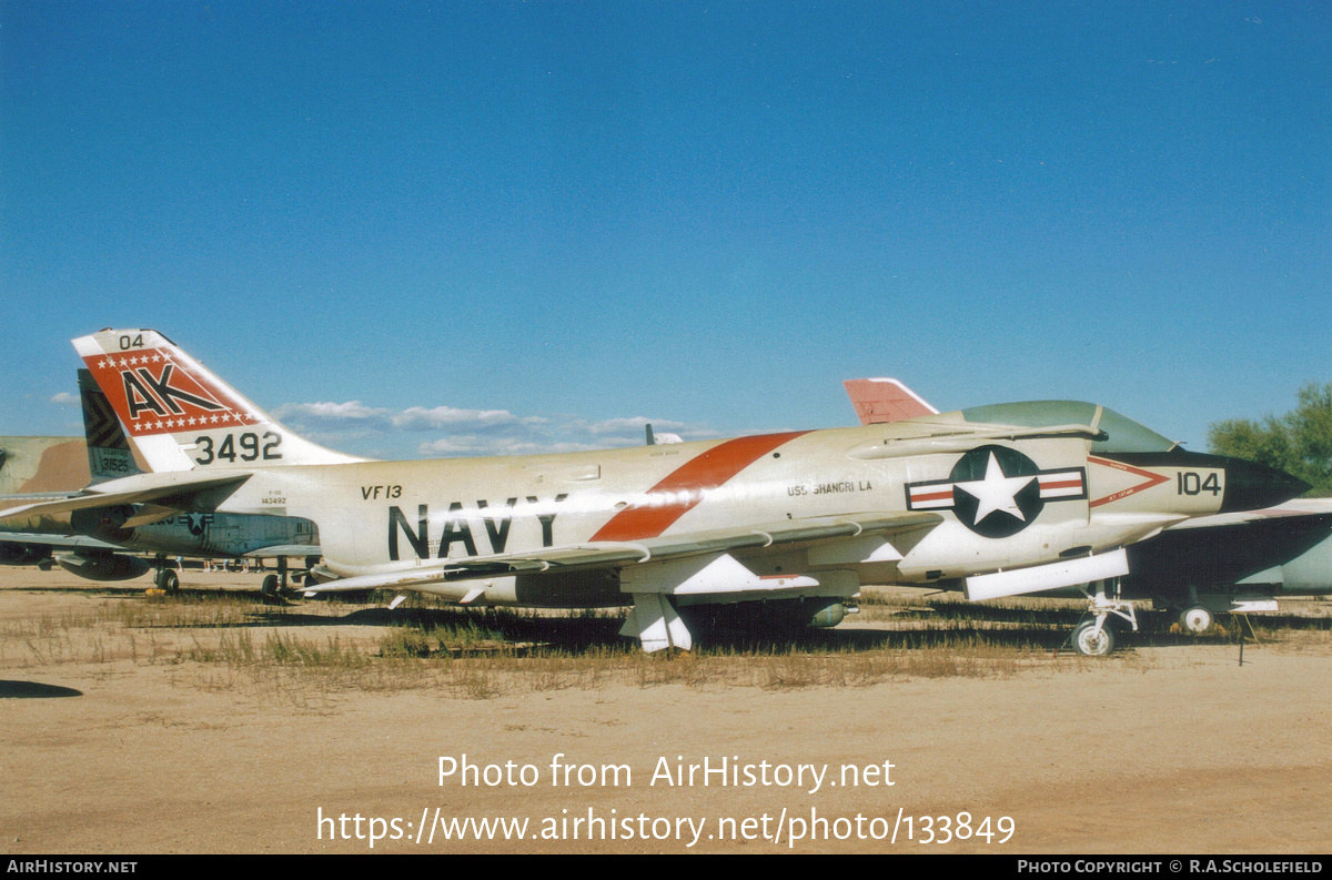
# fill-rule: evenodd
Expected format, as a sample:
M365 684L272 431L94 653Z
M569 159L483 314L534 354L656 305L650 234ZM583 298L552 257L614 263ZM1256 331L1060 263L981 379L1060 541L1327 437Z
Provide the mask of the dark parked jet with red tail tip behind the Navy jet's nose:
M898 379L843 385L862 425L938 413ZM1128 568L1123 596L1151 599L1193 632L1216 612L1276 611L1279 596L1332 592L1332 499L1189 518L1128 547ZM1108 634L1094 643L1099 651L1112 644Z

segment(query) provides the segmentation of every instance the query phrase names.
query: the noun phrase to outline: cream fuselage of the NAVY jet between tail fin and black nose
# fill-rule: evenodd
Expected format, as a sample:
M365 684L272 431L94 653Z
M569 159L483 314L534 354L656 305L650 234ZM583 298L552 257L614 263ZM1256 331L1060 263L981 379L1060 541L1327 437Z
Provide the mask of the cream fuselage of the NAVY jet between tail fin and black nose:
M1087 441L1062 437L972 441L966 451L880 451L934 442L928 435L939 418L947 417L928 426L898 423L887 433L870 426L558 455L260 469L222 510L314 521L326 567L344 576L567 545L930 510L943 522L888 542L867 537L737 554L761 576L852 570L863 582L923 584L1059 554L1102 552L1215 513L1225 502L1227 466L1235 467L1183 451L1146 461L1092 455ZM594 579L606 586L603 574ZM457 598L473 579L421 588ZM531 603L531 590L517 582L492 586L500 588L488 591L488 602L519 602L522 591L521 603ZM598 603L622 600L611 590Z

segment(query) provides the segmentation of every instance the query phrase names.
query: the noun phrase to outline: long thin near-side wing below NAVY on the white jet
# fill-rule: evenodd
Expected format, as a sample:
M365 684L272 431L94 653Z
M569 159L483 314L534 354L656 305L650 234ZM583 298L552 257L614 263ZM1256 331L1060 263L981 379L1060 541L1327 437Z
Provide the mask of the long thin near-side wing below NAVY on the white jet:
M682 535L662 535L634 542L589 542L543 547L531 552L472 556L441 560L436 566L413 566L402 571L360 575L317 584L304 592L410 588L442 580L465 580L506 574L553 570L625 567L649 560L702 556L774 545L821 543L860 535L928 529L943 517L928 511L864 514L782 521L753 529L710 530Z

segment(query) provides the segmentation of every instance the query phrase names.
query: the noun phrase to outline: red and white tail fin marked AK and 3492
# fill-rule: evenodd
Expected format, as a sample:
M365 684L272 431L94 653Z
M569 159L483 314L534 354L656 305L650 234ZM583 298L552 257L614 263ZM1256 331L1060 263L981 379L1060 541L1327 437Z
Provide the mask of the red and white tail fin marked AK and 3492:
M152 471L365 461L292 433L156 330L107 329L73 345Z

